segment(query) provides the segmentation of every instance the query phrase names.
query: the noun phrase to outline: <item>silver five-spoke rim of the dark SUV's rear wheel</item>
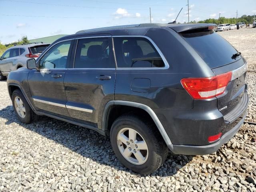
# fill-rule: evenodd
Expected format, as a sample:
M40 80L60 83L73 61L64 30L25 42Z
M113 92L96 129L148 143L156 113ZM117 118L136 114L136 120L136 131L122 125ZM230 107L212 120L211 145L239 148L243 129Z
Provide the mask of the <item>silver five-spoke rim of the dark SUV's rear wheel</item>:
M141 165L148 159L148 145L144 138L132 128L122 128L117 135L118 148L128 162Z

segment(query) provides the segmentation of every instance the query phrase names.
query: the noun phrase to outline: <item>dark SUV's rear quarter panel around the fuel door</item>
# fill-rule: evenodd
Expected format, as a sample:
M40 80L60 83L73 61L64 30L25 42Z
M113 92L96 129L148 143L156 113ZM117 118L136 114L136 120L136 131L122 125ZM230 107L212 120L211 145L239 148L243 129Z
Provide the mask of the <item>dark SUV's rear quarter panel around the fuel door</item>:
M186 77L210 77L215 74L188 43L170 28L152 28L148 36L166 58L168 69L136 68L116 70L115 100L138 102L150 108L193 108L194 100L182 87ZM118 65L118 63L117 63ZM150 79L147 92L132 90L135 78Z

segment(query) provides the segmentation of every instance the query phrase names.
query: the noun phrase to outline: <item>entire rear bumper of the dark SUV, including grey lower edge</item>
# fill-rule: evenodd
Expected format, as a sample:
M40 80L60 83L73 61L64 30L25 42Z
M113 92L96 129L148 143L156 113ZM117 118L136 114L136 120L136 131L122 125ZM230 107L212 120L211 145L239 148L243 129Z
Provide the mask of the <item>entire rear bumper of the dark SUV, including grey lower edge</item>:
M216 108L216 99L194 102L195 107L189 110L156 110L172 142L168 148L175 154L202 155L216 152L243 124L249 98L245 91L236 107L224 116ZM197 102L200 102L200 105ZM220 132L222 136L219 140L214 143L208 142L209 136Z

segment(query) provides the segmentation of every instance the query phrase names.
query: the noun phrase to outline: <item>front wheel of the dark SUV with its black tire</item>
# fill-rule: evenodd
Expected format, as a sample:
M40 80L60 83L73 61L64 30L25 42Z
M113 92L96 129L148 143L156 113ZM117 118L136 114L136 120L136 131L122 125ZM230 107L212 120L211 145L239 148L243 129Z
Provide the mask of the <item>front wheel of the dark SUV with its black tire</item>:
M18 99L19 104L17 101L15 102L16 99ZM12 93L12 106L14 108L16 116L19 118L21 122L29 124L35 119L36 114L30 108L27 100L25 99L20 90L14 90L14 92ZM22 109L25 109L25 112Z

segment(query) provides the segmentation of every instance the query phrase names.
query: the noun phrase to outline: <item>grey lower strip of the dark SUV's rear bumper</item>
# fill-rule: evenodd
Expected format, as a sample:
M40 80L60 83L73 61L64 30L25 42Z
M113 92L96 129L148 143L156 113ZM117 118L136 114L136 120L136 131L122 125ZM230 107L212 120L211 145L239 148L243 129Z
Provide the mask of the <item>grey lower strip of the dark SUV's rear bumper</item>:
M239 128L242 126L244 119L246 118L246 113L244 114L242 120L234 128L226 132L218 142L206 145L206 146L190 146L190 145L172 145L168 146L174 154L184 154L184 155L205 155L216 152L224 143L228 142L235 134L238 132Z

